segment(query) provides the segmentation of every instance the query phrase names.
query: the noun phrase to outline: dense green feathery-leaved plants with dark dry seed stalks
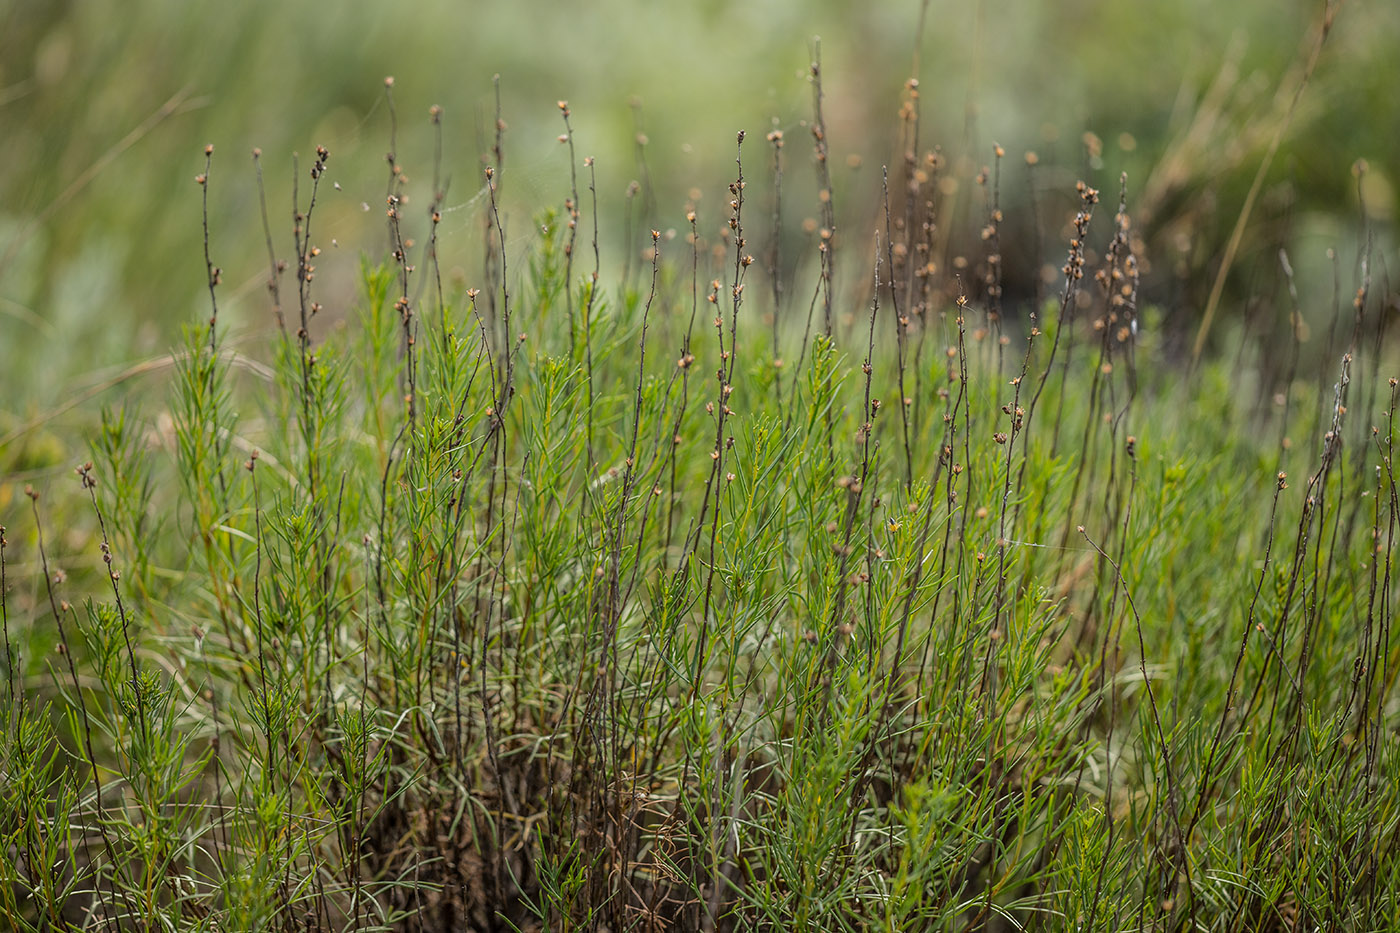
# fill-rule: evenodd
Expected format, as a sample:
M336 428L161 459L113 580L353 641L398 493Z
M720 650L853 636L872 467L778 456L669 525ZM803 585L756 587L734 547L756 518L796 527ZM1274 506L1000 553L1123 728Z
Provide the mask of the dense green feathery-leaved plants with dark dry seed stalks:
M1078 185L1056 283L1014 301L1001 148L962 179L976 251L937 150L837 228L812 77L805 238L791 146L741 133L718 213L644 233L612 286L564 102L561 207L524 238L497 118L469 275L438 263L441 165L416 203L391 151L346 314L318 301L332 153L290 255L269 233L252 338L206 202L211 311L168 385L6 507L0 915L1393 922L1400 389L1369 254L1352 301L1277 312L1282 360L1246 332L1187 368L1126 181L1116 207Z

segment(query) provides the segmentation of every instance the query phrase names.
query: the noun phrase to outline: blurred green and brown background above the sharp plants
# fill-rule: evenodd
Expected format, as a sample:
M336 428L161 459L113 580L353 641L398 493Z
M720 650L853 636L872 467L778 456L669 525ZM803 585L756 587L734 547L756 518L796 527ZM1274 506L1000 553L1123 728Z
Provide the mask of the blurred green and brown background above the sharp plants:
M778 126L788 139L787 219L797 226L815 213L804 200L812 171L802 122L818 35L837 219L869 216L879 164L897 160L920 20L917 0L10 0L0 10L0 438L14 444L34 443L34 431L17 433L25 424L101 394L123 367L165 350L182 324L207 317L193 182L206 143L216 146L221 311L235 335L256 333L272 317L249 151L263 151L277 251L290 258L293 153L305 168L316 144L330 148L328 181L340 189L323 196L316 238L323 248L336 242L318 275L333 317L353 300L350 276L339 272L363 251L384 249L388 74L398 154L420 182L420 206L433 161L427 111L444 108L444 261L476 284L494 74L508 123L503 193L512 244L526 245L532 216L567 195L567 154L556 140L556 101L567 98L580 157L596 157L603 265L616 269L645 227L683 227L696 193L701 217L722 221L741 127L750 130L750 195L766 191L762 140ZM1007 244L1008 266L1019 251L1033 259L1019 263L1030 279L1063 247L1047 238L1044 255L1029 256L1035 238L1014 235L1016 223L1026 227L1015 219L1029 213L1022 153L1040 156L1050 234L1058 228L1053 192L1088 175L1112 202L1127 171L1154 263L1149 298L1184 325L1198 314L1322 10L1299 0L934 0L918 43L921 140L942 146L962 171L986 161L993 141L1007 147L1002 196L1016 240ZM1236 304L1277 293L1281 245L1308 301L1330 303L1329 247L1350 282L1361 235L1358 158L1369 164L1359 189L1375 265L1394 263L1397 48L1400 4L1341 7L1253 214ZM641 178L650 195L631 209L645 216L627 245L627 189ZM150 378L134 384L153 388Z

